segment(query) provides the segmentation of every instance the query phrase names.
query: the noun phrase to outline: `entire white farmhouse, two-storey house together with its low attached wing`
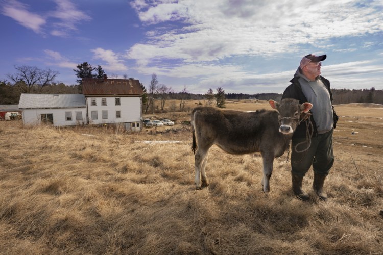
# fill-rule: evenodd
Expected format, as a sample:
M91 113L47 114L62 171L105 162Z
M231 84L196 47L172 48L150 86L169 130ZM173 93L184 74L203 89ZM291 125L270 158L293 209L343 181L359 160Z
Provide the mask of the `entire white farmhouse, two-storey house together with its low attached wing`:
M140 131L142 88L138 80L83 79L83 94L21 94L24 124L54 126L117 123Z

